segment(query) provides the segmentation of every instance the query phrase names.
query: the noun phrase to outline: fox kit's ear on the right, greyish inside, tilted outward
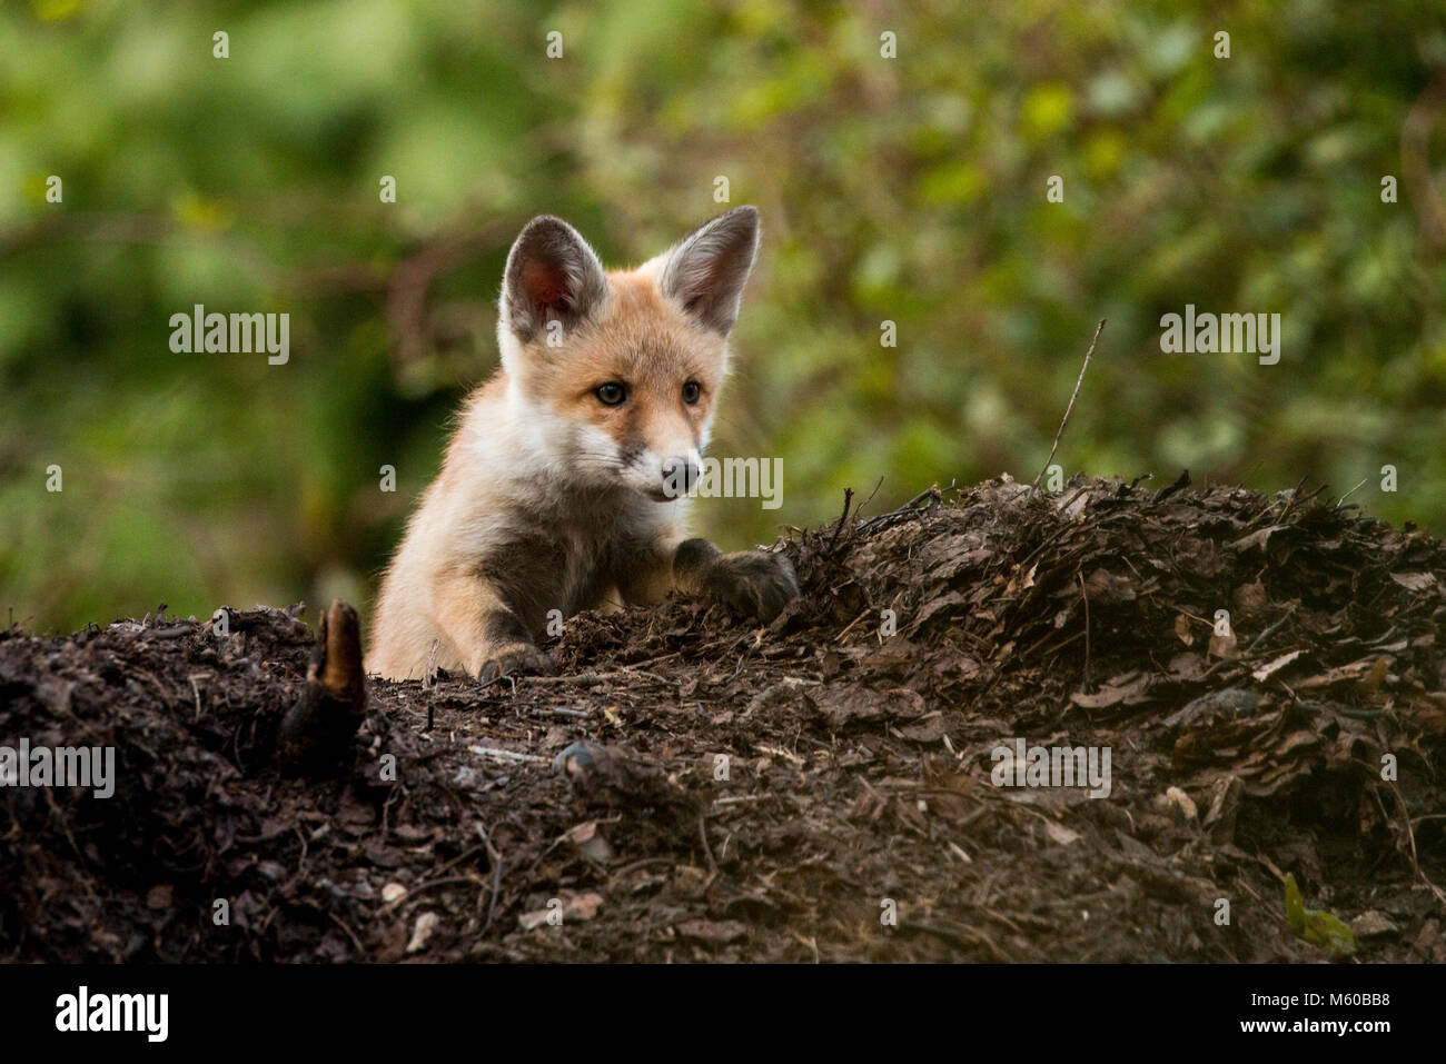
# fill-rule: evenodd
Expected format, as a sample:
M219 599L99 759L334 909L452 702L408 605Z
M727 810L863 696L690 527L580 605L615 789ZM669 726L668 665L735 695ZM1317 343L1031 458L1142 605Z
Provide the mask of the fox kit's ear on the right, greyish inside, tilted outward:
M735 207L693 230L668 253L662 293L709 328L729 334L758 254L758 208Z

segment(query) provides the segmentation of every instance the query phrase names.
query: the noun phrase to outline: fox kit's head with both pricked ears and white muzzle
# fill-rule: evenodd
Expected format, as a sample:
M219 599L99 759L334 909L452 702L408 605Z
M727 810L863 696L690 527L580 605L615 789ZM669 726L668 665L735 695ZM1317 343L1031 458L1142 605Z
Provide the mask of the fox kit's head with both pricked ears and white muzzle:
M497 344L508 402L549 476L656 502L685 493L756 253L753 207L635 270L603 270L561 218L523 227L503 270Z

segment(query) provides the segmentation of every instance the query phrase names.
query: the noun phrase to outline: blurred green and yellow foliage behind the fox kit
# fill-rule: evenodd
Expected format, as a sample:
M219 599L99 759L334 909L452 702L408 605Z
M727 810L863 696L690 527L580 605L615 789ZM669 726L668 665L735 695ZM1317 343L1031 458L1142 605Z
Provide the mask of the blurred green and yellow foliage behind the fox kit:
M4 0L0 622L364 607L521 226L636 263L719 175L765 236L713 452L784 458L782 509L696 506L724 548L1032 479L1100 317L1066 473L1439 531L1443 69L1437 0ZM1280 312L1280 364L1163 354L1187 302ZM289 364L174 354L194 304L289 312Z

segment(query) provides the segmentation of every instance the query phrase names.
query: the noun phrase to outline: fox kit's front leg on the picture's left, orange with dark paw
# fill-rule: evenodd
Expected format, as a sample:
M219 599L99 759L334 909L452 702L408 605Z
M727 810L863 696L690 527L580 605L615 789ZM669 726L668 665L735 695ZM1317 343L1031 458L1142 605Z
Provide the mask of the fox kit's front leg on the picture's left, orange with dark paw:
M557 672L522 617L476 571L438 575L432 585L432 616L457 648L463 668L484 684L509 672Z

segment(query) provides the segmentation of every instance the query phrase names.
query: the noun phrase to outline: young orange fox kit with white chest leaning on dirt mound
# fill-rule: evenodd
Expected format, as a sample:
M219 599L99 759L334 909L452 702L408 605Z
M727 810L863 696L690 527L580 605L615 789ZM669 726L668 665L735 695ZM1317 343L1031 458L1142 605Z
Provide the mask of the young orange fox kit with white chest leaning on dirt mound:
M680 486L697 480L756 252L752 207L610 273L565 221L528 223L502 278L502 367L469 396L388 568L367 672L551 672L534 638L552 610L677 587L769 620L798 596L782 554L684 531Z

